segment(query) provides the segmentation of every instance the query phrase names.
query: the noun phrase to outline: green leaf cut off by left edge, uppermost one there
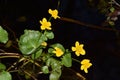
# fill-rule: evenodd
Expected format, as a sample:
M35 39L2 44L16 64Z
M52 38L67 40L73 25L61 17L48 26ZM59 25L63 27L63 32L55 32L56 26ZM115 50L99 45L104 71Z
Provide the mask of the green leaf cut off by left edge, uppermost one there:
M6 43L8 41L8 33L0 26L0 42Z

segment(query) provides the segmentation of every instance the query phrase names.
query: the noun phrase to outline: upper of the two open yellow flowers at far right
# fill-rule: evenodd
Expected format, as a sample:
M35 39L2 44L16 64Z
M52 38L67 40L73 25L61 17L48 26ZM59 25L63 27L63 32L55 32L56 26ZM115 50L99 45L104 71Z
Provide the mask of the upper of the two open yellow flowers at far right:
M83 44L79 44L79 42L76 41L75 47L72 47L72 51L75 51L75 54L77 56L80 56L80 54L85 55L85 50L83 49L83 46Z

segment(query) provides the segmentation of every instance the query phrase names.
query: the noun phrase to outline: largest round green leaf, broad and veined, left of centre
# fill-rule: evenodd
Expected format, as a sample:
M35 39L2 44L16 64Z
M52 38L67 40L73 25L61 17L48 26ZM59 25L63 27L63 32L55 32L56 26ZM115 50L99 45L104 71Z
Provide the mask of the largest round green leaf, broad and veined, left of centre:
M29 55L32 54L36 49L38 49L41 43L46 40L46 36L39 31L25 30L24 34L20 37L18 44L22 54Z

